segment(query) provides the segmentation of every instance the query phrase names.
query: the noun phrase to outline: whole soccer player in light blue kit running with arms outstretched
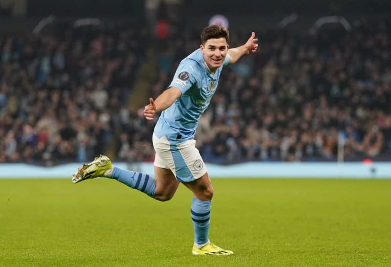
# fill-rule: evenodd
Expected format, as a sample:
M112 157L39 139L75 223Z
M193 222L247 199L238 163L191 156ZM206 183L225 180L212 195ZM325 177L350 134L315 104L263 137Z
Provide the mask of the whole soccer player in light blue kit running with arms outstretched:
M200 48L181 61L168 89L145 106L144 116L153 120L161 111L152 136L155 149L155 178L111 165L107 156L96 157L73 175L77 183L88 178L116 179L131 188L160 200L170 200L181 182L193 193L191 218L194 226L194 255L231 255L209 241L209 218L213 187L204 161L195 148L198 119L217 89L223 66L233 64L245 54L256 52L255 33L244 45L228 49L229 32L211 25L201 33Z

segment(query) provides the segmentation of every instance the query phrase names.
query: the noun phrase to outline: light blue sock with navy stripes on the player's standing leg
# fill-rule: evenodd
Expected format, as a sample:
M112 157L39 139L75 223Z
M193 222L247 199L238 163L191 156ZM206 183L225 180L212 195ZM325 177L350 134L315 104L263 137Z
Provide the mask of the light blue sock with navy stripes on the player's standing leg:
M193 197L190 213L194 226L194 242L198 245L205 244L209 241L211 203L212 201L197 200Z

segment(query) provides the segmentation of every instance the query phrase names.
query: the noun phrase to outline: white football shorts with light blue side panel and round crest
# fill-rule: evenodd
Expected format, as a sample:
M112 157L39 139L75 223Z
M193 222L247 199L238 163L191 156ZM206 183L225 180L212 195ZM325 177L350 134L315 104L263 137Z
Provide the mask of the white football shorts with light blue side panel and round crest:
M206 174L204 161L195 148L194 139L171 145L166 136L157 138L153 134L152 143L156 152L153 165L171 170L178 181L191 182Z

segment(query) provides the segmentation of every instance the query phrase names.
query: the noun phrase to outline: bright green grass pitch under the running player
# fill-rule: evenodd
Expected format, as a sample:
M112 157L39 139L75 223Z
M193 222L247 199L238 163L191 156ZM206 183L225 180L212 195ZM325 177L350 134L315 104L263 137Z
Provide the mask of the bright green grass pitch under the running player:
M109 179L0 179L0 266L391 266L391 180L213 179L193 256L192 195L158 202Z

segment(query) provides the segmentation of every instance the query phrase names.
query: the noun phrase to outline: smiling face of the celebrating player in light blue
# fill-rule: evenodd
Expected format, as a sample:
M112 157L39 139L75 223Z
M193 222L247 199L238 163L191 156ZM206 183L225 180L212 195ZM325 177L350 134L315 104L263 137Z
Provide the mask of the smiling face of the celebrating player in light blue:
M225 38L209 39L205 45L200 45L201 53L209 69L213 72L220 67L228 52L228 45Z

